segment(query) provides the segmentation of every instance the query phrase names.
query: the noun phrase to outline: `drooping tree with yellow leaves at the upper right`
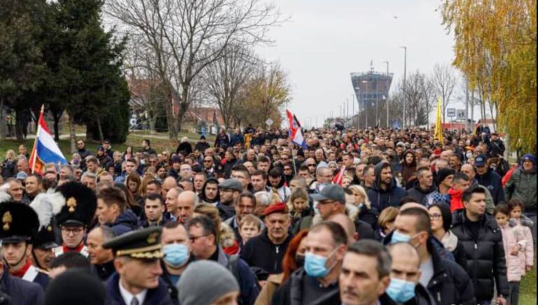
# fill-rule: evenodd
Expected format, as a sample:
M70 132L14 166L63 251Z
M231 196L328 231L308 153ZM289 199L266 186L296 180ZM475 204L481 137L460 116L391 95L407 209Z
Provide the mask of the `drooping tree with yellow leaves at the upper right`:
M453 64L497 110L498 128L516 148L536 150L536 0L443 0L455 34Z

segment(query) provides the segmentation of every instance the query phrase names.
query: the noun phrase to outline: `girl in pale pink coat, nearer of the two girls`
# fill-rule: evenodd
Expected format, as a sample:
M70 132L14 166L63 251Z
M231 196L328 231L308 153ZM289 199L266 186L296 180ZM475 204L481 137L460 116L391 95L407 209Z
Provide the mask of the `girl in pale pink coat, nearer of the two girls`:
M523 226L517 222L510 221L510 209L505 203L499 203L495 207L493 216L499 225L502 233L502 244L506 257L506 276L508 278L510 294L508 304L516 305L519 299L519 283L525 273L521 261L525 260L523 250L527 240L523 235Z

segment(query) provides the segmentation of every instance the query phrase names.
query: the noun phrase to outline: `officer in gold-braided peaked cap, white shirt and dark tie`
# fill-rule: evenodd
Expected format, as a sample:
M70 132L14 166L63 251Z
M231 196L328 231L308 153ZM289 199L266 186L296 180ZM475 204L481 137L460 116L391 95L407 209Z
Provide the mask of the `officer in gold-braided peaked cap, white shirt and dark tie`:
M113 238L102 246L114 254L116 273L106 281L111 305L173 304L167 285L160 278L164 257L161 228L151 226Z

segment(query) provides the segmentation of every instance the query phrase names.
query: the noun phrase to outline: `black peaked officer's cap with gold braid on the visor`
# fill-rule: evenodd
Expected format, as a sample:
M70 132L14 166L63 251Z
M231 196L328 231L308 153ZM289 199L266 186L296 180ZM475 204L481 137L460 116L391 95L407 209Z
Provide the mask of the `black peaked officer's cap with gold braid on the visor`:
M164 257L163 246L160 244L160 226L151 226L125 233L112 238L102 245L111 249L116 257L132 257L135 259L160 259Z

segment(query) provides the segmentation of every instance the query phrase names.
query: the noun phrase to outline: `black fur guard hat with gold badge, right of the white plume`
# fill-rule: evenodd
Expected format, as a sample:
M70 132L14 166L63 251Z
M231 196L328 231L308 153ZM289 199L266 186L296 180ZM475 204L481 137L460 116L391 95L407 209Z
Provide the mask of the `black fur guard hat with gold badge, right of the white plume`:
M97 209L97 196L79 182L67 182L57 188L65 198L65 205L56 215L60 226L88 226Z

